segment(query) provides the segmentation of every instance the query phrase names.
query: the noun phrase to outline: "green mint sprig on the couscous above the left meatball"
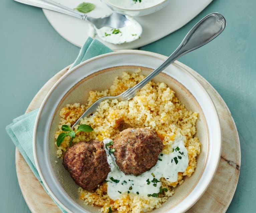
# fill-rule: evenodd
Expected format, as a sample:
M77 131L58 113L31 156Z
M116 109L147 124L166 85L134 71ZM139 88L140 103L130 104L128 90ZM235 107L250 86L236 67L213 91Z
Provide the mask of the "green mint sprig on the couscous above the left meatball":
M71 147L72 141L73 141L76 133L78 133L78 132L91 132L91 131L93 131L93 129L89 125L86 125L86 124L79 125L77 130L76 130L76 132L74 130L72 130L70 128L70 126L68 126L68 125L62 125L61 130L65 131L65 132L62 132L62 133L59 134L59 136L57 138L57 147L59 147L61 145L61 143L64 141L66 136L70 136L71 137L70 143L69 143L69 147Z

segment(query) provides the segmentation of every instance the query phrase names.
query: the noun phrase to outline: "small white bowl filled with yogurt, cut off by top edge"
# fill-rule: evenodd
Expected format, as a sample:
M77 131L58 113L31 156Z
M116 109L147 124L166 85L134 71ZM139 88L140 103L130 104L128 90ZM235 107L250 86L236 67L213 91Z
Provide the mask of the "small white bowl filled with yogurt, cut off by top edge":
M172 0L101 0L113 11L129 16L145 16L164 8Z

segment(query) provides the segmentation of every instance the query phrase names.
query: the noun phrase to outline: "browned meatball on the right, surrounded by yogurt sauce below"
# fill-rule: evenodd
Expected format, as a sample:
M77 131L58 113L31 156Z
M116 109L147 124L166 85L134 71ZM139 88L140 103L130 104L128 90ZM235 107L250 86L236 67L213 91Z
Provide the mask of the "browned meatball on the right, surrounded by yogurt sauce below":
M113 140L116 164L125 174L140 175L158 161L163 149L157 132L146 128L128 128Z

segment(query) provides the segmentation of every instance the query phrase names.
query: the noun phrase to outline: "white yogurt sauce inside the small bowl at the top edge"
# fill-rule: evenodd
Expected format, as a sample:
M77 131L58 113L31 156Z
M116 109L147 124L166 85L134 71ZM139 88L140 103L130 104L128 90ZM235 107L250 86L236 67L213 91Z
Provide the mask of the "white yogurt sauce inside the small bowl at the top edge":
M157 5L164 0L107 0L109 3L125 9L143 9Z

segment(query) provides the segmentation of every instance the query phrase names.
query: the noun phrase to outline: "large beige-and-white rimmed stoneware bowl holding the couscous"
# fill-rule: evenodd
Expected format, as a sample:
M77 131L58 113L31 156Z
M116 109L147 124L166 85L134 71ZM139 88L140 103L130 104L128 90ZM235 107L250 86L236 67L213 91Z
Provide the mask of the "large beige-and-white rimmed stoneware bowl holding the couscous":
M98 207L79 200L78 186L56 156L54 132L58 128L59 111L67 103L86 103L90 90L109 88L115 76L123 71L142 69L148 75L165 56L139 50L123 50L91 58L62 76L45 97L35 122L33 151L39 175L50 195L67 212L98 213ZM153 213L177 213L188 210L205 192L217 169L221 153L221 129L215 106L203 86L182 68L180 62L167 67L153 80L165 82L176 92L189 110L197 111L197 137L201 154L190 178L175 189L175 194ZM57 161L57 163L55 162Z

